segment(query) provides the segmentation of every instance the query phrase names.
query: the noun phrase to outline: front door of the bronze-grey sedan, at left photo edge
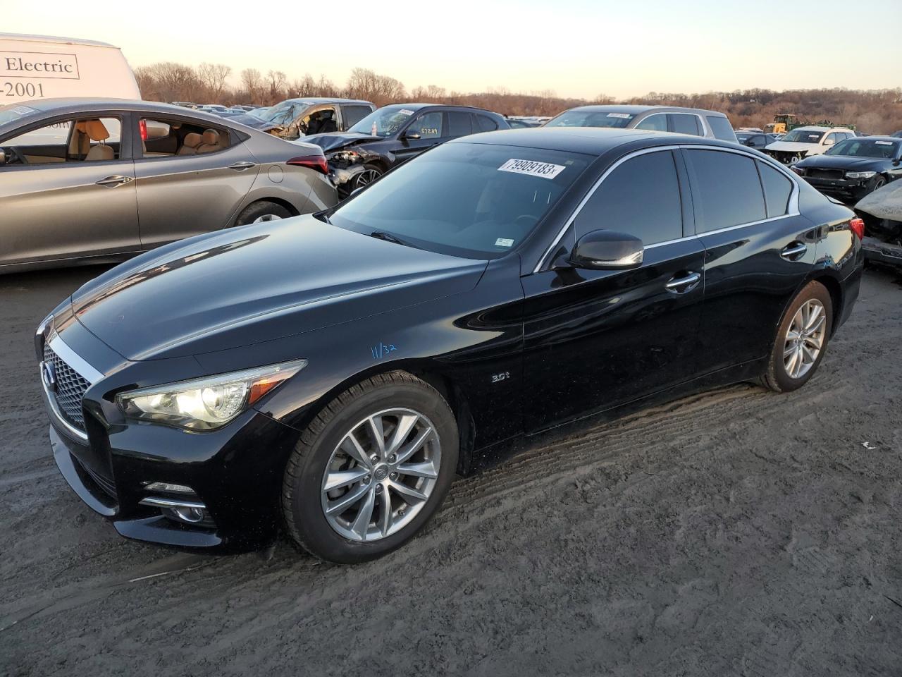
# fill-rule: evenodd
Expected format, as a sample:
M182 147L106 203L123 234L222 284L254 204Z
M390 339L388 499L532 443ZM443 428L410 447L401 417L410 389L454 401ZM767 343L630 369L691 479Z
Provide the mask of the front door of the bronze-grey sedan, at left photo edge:
M105 140L74 131L88 117L99 119ZM0 139L7 156L0 165L0 265L140 249L134 167L122 129L123 117L101 113ZM101 144L106 153L88 159ZM24 162L13 162L14 153Z

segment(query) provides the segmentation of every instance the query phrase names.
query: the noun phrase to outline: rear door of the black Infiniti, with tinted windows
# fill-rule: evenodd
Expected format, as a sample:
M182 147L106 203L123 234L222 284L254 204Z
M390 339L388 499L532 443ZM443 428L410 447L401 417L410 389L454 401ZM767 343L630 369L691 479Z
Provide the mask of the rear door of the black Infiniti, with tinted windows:
M815 263L817 229L770 162L719 149L683 151L704 245L703 372L769 354L784 308Z

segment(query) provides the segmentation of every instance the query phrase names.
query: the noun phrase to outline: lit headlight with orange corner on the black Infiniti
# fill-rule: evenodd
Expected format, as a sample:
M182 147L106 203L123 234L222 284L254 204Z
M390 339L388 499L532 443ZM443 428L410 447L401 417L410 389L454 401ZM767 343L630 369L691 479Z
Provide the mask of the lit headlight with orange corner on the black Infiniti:
M154 385L116 395L126 418L177 425L188 430L218 428L244 412L274 387L307 366L306 359L279 365Z

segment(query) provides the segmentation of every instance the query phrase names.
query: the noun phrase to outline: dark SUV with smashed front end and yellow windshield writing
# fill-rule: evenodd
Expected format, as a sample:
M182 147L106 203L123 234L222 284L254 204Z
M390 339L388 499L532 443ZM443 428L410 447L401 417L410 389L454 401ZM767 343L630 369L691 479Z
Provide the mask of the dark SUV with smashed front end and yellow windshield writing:
M322 147L344 196L437 144L509 128L504 117L482 108L393 104L373 111L347 132L312 134L302 141Z

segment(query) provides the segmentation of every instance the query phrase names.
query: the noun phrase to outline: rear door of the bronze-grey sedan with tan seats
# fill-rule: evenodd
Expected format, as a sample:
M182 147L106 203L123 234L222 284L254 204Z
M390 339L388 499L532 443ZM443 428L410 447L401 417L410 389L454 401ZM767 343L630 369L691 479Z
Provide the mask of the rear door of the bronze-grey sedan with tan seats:
M216 127L221 150L180 154L188 134L213 127L153 114L136 115L133 124L136 135L145 129L151 137L138 144L134 160L143 248L229 226L260 171L235 132Z

